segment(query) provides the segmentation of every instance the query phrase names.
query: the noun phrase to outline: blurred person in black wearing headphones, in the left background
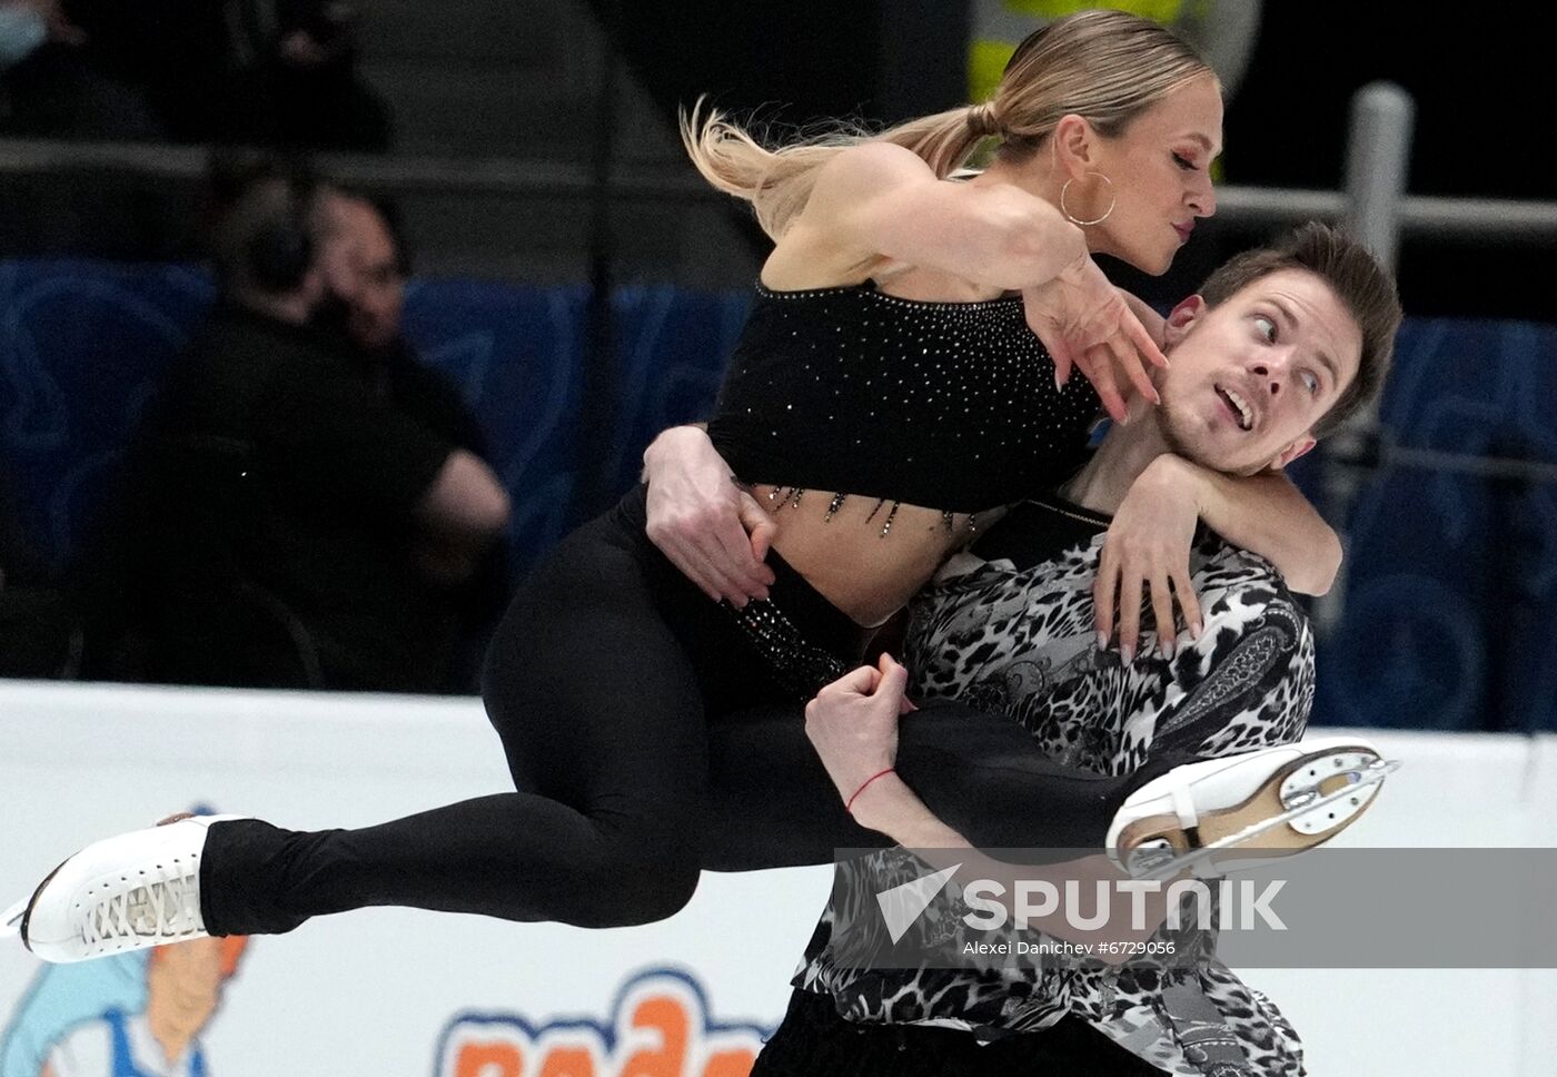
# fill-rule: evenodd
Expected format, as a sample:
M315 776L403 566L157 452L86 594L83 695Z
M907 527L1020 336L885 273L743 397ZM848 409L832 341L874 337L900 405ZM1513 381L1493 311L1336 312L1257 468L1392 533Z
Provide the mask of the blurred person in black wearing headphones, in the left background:
M213 229L220 299L129 463L112 581L151 680L436 692L448 589L508 519L492 471L386 396L319 324L325 196L301 173L235 184ZM430 570L428 550L444 560ZM112 628L97 616L95 644ZM115 670L109 670L115 672Z

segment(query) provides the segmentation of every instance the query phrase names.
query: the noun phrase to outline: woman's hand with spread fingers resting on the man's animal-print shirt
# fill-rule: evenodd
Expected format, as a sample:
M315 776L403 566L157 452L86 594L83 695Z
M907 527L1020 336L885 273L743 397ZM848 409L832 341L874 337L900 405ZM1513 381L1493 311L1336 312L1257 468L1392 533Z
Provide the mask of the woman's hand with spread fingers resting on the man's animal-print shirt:
M1119 655L1135 658L1140 641L1141 592L1152 597L1157 645L1172 658L1174 602L1183 611L1190 634L1200 634L1200 603L1190 581L1190 547L1200 521L1196 477L1177 457L1163 455L1148 464L1113 516L1091 594L1096 602L1098 642L1107 645L1118 628ZM1113 620L1118 602L1119 619Z

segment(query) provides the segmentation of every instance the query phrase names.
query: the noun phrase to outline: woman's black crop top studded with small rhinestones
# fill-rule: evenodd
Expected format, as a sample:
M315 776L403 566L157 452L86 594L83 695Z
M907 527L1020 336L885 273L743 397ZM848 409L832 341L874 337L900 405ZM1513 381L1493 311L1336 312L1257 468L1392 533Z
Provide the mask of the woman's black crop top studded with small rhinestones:
M870 284L757 285L708 436L736 477L979 513L1068 478L1101 405L1021 299L922 302Z

